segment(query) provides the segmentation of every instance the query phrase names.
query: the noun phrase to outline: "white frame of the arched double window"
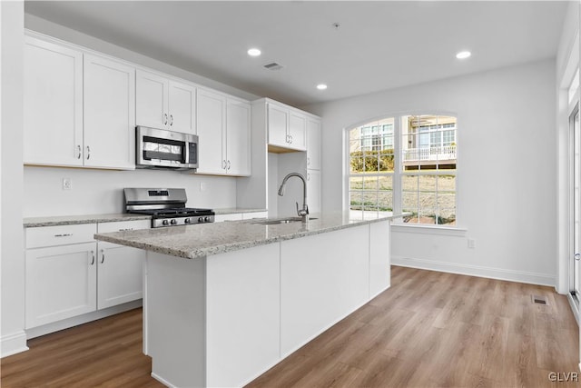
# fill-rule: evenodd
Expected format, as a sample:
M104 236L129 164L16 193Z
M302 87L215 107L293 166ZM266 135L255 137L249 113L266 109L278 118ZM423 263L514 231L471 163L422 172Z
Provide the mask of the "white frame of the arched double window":
M460 198L460 190L459 187L460 185L458 184L460 181L460 176L461 176L461 167L458 168L458 165L461 165L461 153L458 153L458 148L456 149L456 169L454 170L446 170L446 169L442 169L442 170L438 170L438 171L424 171L423 173L421 172L421 170L418 171L404 171L403 170L403 166L402 166L402 125L401 125L401 120L402 118L404 118L405 116L409 116L409 115L434 115L434 116L454 116L456 118L456 126L454 127L454 130L456 131L456 134L454 136L454 141L453 143L455 143L457 146L460 142L459 138L461 137L458 134L458 127L461 126L461 120L458 119L458 113L456 112L450 112L450 111L440 111L440 110L430 110L430 109L426 109L426 110L421 110L421 111L404 111L404 112L396 112L396 113L391 113L391 114L381 114L379 116L375 116L375 117L371 117L369 119L366 120L361 120L356 124L351 124L347 127L344 127L343 130L343 146L344 146L344 151L343 151L343 209L346 209L346 211L350 211L350 178L351 175L350 173L350 131L354 128L360 127L360 126L364 126L366 124L372 123L374 121L381 121L381 120L386 120L389 118L393 118L393 150L394 150L394 171L393 173L391 172L378 172L377 174L374 175L392 175L392 195L393 195L393 214L401 214L402 213L402 177L404 175L414 175L414 174L431 174L431 175L448 175L448 174L453 174L455 175L455 217L456 217L456 223L454 225L449 225L449 224L419 224L419 223L414 223L414 224L408 224L408 223L404 223L403 222L403 218L399 218L399 219L395 219L393 224L394 226L402 226L402 227L409 227L409 228L431 228L431 229L435 229L435 230L440 230L440 231L454 231L454 230L458 230L458 231L465 231L465 228L463 228L461 226L461 212L460 212L460 207L459 207L459 198ZM438 131L440 131L440 136L442 137L441 140L443 140L443 132L445 130L447 130L448 128L444 128L442 125L442 128L439 128ZM428 136L429 136L428 132ZM419 135L419 131L416 133L416 135ZM363 215L362 215L363 216Z

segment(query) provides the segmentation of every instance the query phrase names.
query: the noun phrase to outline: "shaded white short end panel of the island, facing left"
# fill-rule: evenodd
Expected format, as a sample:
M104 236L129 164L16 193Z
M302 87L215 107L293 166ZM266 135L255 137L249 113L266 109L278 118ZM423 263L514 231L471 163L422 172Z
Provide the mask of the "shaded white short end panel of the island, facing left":
M206 259L147 252L147 351L168 386L205 386Z

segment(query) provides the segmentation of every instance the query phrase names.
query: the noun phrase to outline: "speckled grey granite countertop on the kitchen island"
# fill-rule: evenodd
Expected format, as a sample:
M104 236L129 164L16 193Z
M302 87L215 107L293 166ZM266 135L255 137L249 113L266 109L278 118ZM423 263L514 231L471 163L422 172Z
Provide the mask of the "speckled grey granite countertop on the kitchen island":
M352 218L347 212L310 214L310 216L316 219L310 220L308 224L299 221L265 225L258 224L260 220L246 220L95 234L94 238L160 254L195 259L312 234L332 232L361 224L391 220L400 215L386 212L377 218L365 220Z

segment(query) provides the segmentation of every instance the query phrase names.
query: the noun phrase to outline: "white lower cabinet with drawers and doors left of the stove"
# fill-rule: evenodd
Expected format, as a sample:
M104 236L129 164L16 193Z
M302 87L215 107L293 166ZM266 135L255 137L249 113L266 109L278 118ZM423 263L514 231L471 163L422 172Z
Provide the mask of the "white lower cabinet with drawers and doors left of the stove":
M93 235L149 227L143 220L27 228L25 328L141 299L145 251L97 244Z

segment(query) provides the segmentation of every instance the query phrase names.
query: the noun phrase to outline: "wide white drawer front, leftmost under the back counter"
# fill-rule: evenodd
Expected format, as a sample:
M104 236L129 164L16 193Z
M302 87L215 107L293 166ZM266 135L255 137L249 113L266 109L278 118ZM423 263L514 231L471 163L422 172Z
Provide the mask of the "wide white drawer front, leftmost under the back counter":
M93 236L95 233L97 233L97 224L26 228L26 248L88 243L94 241Z

